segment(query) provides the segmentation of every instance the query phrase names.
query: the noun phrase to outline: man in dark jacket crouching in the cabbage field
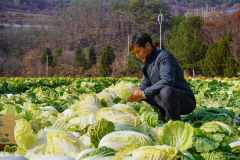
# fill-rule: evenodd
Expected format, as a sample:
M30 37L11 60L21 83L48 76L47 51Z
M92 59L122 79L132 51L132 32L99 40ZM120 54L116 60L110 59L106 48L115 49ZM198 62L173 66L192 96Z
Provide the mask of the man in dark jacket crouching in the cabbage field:
M196 107L195 96L184 79L175 57L152 44L151 37L139 32L133 36L130 50L142 60L142 83L127 101L147 101L160 109L163 120L181 120L180 115L191 113Z

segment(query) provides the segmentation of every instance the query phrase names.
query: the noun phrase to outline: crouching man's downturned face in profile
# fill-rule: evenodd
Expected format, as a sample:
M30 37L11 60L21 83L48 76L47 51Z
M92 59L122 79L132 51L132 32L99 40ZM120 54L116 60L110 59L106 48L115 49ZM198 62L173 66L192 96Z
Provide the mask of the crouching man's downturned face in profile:
M152 47L149 46L150 44L146 44L145 48L139 46L138 44L134 45L133 52L136 54L137 58L141 59L143 62L146 62L146 57L151 53Z

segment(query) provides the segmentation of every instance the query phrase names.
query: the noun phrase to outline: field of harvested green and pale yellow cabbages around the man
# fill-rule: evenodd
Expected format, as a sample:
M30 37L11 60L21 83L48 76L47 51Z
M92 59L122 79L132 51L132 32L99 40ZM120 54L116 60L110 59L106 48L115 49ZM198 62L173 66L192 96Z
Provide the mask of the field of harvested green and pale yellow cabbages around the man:
M126 102L137 78L0 78L0 114L17 145L0 159L237 160L240 81L188 79L197 108L164 123L145 101ZM0 130L1 136L1 130ZM1 142L0 142L1 143Z

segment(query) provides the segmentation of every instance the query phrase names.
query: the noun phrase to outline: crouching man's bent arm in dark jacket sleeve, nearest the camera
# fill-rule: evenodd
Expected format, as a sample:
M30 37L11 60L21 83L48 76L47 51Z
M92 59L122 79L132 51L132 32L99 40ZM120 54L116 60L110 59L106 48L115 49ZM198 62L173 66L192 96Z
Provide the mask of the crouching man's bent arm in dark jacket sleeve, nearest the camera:
M147 98L159 94L164 86L175 86L176 65L174 57L168 55L160 60L159 74L161 80L144 89L144 94Z

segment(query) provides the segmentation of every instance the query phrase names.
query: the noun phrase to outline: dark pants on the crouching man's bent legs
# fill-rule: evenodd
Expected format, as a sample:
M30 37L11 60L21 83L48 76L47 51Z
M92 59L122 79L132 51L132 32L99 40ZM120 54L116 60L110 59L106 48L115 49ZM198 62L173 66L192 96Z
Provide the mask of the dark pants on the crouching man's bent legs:
M181 120L180 115L189 114L196 108L194 97L170 86L163 87L158 95L145 101L159 108L166 122Z

